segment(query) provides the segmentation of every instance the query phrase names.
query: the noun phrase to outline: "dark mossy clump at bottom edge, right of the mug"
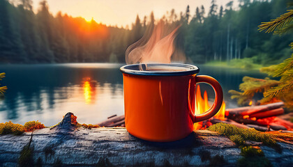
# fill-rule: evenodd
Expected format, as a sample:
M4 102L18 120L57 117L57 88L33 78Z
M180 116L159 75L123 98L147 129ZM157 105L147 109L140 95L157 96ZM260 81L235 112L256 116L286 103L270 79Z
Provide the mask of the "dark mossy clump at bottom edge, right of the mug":
M260 148L255 148L252 146L242 147L241 159L237 161L237 166L239 167L269 167L272 166L269 159L264 157L264 152Z

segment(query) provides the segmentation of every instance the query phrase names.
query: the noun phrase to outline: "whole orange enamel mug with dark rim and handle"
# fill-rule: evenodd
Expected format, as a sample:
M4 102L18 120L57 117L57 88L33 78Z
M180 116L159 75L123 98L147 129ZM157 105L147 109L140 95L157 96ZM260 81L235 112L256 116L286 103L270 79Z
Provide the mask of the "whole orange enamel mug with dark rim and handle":
M197 76L200 69L195 65L147 63L125 65L120 70L125 125L137 138L157 142L185 138L193 132L193 123L216 115L223 102L218 81ZM195 85L201 82L213 87L215 101L211 109L195 116Z

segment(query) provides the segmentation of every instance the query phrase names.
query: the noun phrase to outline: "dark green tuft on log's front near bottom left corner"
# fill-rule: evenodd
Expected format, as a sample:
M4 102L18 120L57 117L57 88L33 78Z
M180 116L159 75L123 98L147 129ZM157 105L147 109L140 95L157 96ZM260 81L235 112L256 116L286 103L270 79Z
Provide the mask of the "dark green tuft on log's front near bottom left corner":
M33 166L33 149L29 148L29 145L24 146L22 152L20 152L17 164L20 167Z

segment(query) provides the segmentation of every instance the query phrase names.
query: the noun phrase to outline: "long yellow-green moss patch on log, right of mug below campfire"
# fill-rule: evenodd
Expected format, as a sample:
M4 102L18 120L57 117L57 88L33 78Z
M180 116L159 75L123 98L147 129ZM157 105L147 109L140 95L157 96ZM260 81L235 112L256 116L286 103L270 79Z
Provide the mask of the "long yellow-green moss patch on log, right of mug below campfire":
M234 125L225 124L222 122L211 125L211 127L209 127L209 130L228 136L232 141L238 144L243 144L244 141L258 141L266 145L277 144L272 134L259 132L255 129L242 129Z

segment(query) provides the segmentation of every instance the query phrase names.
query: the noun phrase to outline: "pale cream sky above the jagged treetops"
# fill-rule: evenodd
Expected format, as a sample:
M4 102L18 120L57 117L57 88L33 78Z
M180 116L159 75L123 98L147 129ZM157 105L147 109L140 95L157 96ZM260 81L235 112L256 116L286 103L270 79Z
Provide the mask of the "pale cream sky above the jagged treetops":
M230 0L218 0L223 5ZM33 0L34 10L38 10L40 0ZM211 0L47 0L50 12L56 15L59 11L73 17L84 17L88 22L93 18L98 23L112 26L130 26L135 22L138 14L140 19L149 16L153 11L156 19L162 17L167 11L175 9L176 13L185 12L190 6L190 15L195 14L197 6L204 5L206 13L209 11Z

